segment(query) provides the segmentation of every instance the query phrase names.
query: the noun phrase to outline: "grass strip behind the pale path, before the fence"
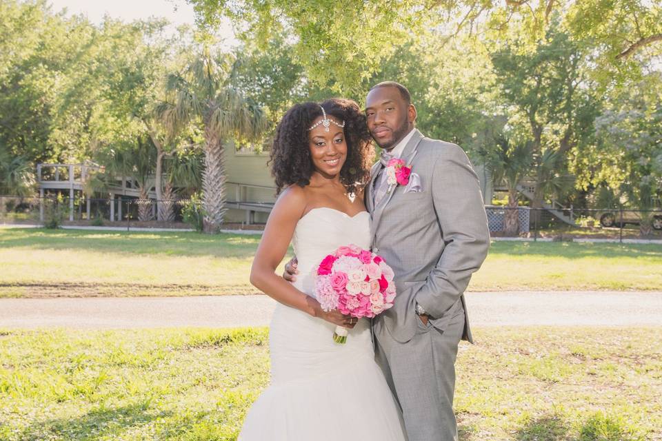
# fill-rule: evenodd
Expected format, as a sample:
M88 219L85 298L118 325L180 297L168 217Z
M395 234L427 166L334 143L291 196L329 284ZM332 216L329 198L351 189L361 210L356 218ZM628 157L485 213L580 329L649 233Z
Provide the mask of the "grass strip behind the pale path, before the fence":
M253 294L259 236L0 229L0 297ZM662 246L495 242L470 291L653 290Z

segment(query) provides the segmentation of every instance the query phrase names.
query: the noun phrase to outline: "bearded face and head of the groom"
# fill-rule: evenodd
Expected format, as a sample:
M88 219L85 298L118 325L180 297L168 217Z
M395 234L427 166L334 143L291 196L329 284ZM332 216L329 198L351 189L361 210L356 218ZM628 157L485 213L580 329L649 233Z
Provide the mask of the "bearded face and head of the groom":
M365 99L368 130L379 147L390 150L414 127L416 110L391 86L375 88Z

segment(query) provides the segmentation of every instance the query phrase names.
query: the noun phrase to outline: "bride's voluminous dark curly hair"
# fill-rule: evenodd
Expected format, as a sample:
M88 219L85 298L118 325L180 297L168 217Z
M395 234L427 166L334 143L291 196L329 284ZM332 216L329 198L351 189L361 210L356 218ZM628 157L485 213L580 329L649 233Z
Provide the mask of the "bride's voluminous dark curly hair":
M310 184L314 172L310 158L308 128L319 116L320 106L326 114L345 121L347 158L340 170L340 181L349 193L356 193L368 181L370 161L374 157L372 138L359 105L349 99L328 99L322 103L301 103L290 108L276 129L271 149L271 174L276 180L277 192L288 185L301 187Z

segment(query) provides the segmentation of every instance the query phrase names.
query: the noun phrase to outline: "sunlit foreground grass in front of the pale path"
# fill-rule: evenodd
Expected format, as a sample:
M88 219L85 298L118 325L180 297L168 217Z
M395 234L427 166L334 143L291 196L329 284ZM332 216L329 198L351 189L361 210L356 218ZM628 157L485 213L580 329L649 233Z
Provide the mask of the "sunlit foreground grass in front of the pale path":
M477 329L461 440L662 440L662 329ZM0 439L234 440L266 329L0 331Z

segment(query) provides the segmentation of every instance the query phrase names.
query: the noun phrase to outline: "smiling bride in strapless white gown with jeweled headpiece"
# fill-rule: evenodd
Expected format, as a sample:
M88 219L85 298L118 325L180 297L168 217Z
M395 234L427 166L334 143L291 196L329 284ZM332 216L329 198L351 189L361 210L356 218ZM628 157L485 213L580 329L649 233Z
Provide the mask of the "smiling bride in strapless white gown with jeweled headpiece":
M269 335L271 385L248 412L239 441L405 440L374 362L370 321L325 312L313 294L327 254L352 243L370 249L365 117L344 99L294 105L279 123L271 158L280 195L250 273L279 302ZM290 242L299 259L294 283L275 274ZM336 325L350 329L345 345L332 340Z

